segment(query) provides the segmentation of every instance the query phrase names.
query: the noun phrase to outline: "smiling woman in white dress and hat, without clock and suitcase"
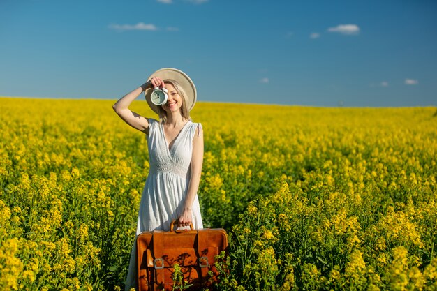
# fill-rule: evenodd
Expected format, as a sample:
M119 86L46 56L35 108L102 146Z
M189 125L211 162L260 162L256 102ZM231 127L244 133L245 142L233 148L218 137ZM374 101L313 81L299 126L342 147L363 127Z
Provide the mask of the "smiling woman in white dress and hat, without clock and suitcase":
M168 91L168 100L161 106L151 102L151 92L156 87ZM128 109L142 92L159 121ZM137 236L144 231L169 230L173 220L182 228L191 223L195 229L203 227L197 196L203 163L203 133L201 124L194 124L189 115L196 97L195 86L185 73L163 68L112 106L127 124L147 135L150 168L138 211ZM136 276L135 239L126 290L135 287Z

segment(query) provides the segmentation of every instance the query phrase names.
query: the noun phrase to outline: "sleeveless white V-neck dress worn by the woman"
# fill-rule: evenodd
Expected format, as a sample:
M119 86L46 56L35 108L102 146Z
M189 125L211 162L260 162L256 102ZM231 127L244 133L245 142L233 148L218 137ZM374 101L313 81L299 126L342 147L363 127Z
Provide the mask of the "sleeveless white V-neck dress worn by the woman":
M191 177L193 138L196 128L202 128L201 124L188 121L169 149L163 125L155 119L148 121L147 146L150 168L138 211L137 236L145 231L169 230L172 220L176 220L182 214ZM193 227L197 230L203 227L197 194L192 209ZM126 290L135 287L136 276L135 239L126 278Z

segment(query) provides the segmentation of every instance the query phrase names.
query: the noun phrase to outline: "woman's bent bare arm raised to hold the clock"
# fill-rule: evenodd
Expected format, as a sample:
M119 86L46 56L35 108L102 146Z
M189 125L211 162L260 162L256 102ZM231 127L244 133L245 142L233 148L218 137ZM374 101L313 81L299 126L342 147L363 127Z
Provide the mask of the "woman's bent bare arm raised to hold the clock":
M132 126L135 129L142 131L143 133L147 133L149 129L149 121L145 117L142 117L140 114L135 113L129 110L129 105L131 105L132 101L135 100L142 92L145 91L148 87L151 87L150 82L146 82L142 84L137 89L129 92L125 96L121 97L117 103L112 105L112 108L115 112L123 119L126 124Z

